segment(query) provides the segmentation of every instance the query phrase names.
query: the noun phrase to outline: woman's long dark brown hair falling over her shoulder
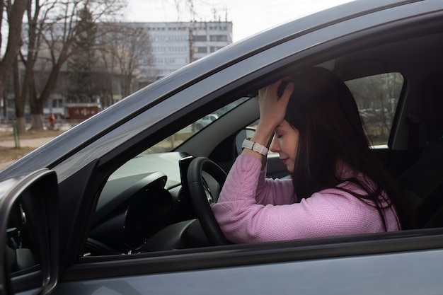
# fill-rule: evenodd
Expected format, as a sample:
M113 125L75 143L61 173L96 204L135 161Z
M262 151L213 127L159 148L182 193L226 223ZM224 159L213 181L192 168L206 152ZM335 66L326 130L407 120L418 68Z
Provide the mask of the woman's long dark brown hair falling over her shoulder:
M292 182L298 199L345 181L365 192L352 195L375 207L386 231L384 211L395 209L401 229L413 228L412 210L395 180L370 148L357 104L346 84L321 67L292 77L294 92L285 120L299 131ZM344 178L338 163L364 175ZM340 187L337 187L340 189ZM345 190L345 188L341 188Z

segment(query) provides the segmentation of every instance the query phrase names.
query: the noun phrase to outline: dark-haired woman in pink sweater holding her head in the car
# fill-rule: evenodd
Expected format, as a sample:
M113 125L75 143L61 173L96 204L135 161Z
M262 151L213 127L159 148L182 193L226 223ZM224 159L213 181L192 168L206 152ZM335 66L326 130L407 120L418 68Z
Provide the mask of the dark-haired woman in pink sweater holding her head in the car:
M408 203L371 151L345 83L320 67L284 80L260 89L258 127L212 207L226 238L249 243L412 227ZM290 179L265 178L268 149L280 154Z

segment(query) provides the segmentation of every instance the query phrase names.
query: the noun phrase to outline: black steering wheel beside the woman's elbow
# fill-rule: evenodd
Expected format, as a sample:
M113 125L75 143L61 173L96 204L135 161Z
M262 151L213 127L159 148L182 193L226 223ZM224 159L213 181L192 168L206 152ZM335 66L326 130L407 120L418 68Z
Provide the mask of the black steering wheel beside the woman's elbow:
M211 205L217 202L217 197L212 195L202 172L209 173L222 187L226 180L226 173L209 158L199 157L191 161L188 168L188 188L195 214L202 225L207 239L211 245L228 245L222 229L212 213Z

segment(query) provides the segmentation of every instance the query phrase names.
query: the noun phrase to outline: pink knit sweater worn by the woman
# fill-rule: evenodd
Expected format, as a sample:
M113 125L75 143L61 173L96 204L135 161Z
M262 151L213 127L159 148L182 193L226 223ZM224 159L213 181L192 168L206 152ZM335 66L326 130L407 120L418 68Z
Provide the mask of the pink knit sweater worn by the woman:
M234 243L282 241L384 231L376 208L337 188L296 203L292 180L265 179L261 162L242 154L231 168L212 210L226 238ZM363 193L352 183L341 187ZM386 209L388 231L398 231L393 209Z

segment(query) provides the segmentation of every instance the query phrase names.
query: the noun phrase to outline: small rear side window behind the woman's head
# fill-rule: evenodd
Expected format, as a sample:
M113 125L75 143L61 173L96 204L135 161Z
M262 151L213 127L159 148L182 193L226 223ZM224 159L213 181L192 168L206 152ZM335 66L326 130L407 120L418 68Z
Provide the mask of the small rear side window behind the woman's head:
M398 73L379 74L350 80L346 85L355 97L372 144L387 144L403 87L403 76Z

